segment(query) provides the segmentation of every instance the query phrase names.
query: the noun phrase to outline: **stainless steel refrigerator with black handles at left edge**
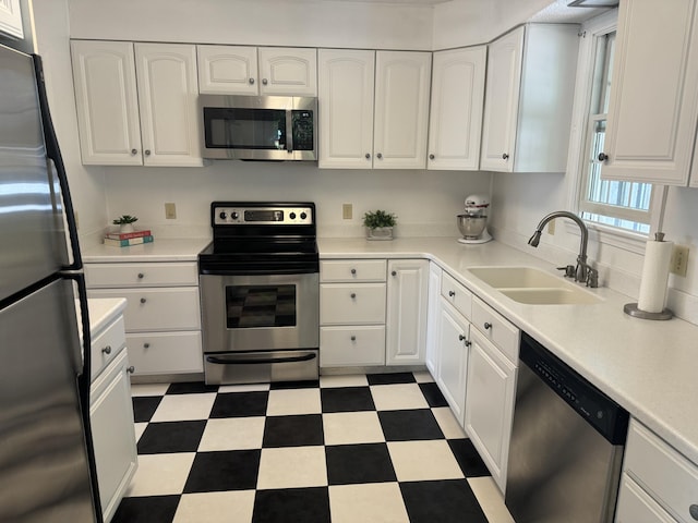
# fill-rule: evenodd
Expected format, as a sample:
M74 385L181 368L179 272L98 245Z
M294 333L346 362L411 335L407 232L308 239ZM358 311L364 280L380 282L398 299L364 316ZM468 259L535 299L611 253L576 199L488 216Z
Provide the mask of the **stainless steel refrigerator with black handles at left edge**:
M40 59L0 46L0 521L101 521L88 325Z

